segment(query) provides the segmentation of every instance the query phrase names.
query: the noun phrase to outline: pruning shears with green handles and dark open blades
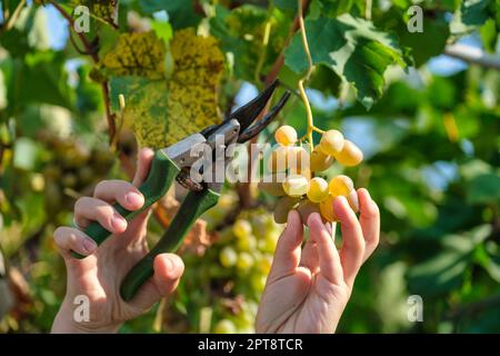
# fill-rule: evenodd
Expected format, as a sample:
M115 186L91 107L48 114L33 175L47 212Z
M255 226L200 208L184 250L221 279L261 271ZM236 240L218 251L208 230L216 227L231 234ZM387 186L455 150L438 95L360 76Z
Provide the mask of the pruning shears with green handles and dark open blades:
M207 210L213 207L220 197L222 182L201 181L194 182L189 176L191 166L199 159L198 156L192 157L191 148L196 145L209 145L212 154L217 149L224 149L231 144L242 144L259 135L269 122L279 113L290 97L290 92L286 91L278 103L272 107L258 122L252 122L261 116L268 106L268 101L277 89L279 82L276 80L254 99L242 106L231 115L229 115L220 125L207 127L198 134L186 137L179 142L167 148L159 149L154 152L151 164L151 169L148 178L139 187L139 190L144 196L144 205L141 209L130 211L124 209L118 202L113 208L127 221L133 219L141 211L150 207L152 204L161 199L173 180L177 179L182 186L189 189L189 192L177 215L170 222L167 231L160 241L128 273L121 284L121 297L123 300L130 300L136 293L153 275L154 257L163 253L176 251L183 241L187 233L190 230L192 224ZM223 142L216 137L223 137ZM213 167L217 155L212 155ZM229 164L226 155L222 156L224 167ZM217 158L220 159L220 158ZM93 221L87 228L86 233L98 245L104 241L111 233L104 229L99 222ZM73 251L77 258L83 258Z

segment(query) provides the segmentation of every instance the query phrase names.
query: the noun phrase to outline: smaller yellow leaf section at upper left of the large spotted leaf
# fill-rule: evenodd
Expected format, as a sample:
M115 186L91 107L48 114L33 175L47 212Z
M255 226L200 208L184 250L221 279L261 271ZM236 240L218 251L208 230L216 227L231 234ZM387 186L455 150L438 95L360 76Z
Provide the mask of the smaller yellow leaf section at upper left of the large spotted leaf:
M153 31L122 33L114 47L101 58L91 77L97 81L110 76L164 77L166 46Z

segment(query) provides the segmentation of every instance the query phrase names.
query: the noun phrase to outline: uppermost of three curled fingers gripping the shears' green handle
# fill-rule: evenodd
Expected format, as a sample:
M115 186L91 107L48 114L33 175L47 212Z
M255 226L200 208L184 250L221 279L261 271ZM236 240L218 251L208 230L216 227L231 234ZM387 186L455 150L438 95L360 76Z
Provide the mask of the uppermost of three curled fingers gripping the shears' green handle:
M93 197L108 201L118 201L128 210L138 210L144 205L144 197L132 184L124 180L102 180L96 186Z

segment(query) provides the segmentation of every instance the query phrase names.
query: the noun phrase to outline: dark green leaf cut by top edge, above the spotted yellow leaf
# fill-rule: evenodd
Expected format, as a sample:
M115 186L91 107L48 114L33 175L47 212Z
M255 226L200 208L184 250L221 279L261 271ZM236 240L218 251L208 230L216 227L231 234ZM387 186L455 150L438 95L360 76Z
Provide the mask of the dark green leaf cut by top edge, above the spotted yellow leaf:
M141 9L147 14L164 10L169 14L169 22L173 29L196 27L201 21L201 16L194 11L192 0L140 0Z

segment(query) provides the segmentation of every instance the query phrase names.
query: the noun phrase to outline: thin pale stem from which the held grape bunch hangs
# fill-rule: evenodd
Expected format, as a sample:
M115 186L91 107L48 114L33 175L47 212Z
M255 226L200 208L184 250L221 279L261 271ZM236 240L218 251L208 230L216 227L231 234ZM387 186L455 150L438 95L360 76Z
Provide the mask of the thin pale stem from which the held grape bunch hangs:
M311 51L309 50L308 36L306 32L306 23L303 21L302 1L303 0L298 0L298 10L299 10L298 18L299 18L300 33L302 37L303 51L306 52L306 58L308 60L308 71L306 72L306 76L299 80L298 87L299 87L300 97L306 107L308 128L307 128L306 135L300 138L300 141L307 139L309 142L310 151L312 152L312 149L314 148L314 142L312 140L312 132L317 131L317 132L323 134L324 131L314 126L314 120L312 118L311 105L309 102L308 96L303 88L304 82L307 82L310 79L312 72L314 71L314 65L312 62Z

